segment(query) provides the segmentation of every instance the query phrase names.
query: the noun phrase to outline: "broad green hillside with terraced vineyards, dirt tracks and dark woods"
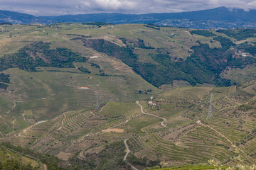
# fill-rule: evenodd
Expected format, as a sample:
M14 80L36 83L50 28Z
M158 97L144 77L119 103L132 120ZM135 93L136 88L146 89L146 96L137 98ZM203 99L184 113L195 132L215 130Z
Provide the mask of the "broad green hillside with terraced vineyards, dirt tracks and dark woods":
M1 28L0 142L69 169L256 164L255 29Z

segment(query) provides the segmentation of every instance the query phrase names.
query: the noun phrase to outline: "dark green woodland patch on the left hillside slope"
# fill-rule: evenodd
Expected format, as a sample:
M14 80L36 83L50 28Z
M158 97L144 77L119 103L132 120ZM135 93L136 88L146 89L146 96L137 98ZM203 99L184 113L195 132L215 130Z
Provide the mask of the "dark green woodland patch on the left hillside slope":
M36 72L36 67L74 67L73 62L87 62L77 52L63 47L50 49L50 43L33 42L26 45L17 53L0 58L0 71L18 67L28 72Z

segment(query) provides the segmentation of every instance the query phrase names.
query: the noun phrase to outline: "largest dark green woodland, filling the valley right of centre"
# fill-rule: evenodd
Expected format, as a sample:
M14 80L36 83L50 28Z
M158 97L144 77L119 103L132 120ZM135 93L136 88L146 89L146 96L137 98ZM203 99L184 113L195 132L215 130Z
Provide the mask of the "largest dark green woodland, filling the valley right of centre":
M211 49L206 44L194 46L192 47L194 53L183 62L173 62L168 51L157 49L156 53L149 55L157 64L139 62L137 55L132 51L132 47L119 47L106 40L83 39L82 41L86 47L92 47L98 52L104 52L122 60L129 67L132 67L134 72L142 75L146 81L154 84L154 86L172 84L174 80L186 80L192 85L209 83L218 86L230 86L230 81L219 77L220 72L225 67L239 67L256 61L250 57L245 59L233 58L233 53L226 51L230 45L233 45L233 42L221 36L218 36L216 40L220 40L223 45L222 48Z

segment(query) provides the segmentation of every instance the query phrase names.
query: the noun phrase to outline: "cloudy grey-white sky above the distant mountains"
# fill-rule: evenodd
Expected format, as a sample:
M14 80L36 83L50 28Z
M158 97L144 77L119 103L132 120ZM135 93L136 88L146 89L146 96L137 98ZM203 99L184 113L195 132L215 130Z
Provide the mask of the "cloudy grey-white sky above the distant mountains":
M256 8L256 0L0 0L0 9L35 16L78 13L171 13L226 6Z

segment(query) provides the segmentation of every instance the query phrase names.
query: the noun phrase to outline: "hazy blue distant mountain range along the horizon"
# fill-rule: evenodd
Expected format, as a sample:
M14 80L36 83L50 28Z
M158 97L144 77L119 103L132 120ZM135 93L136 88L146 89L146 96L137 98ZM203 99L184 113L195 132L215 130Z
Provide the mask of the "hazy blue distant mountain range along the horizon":
M0 11L0 22L10 23L154 23L160 26L186 28L256 28L256 10L244 11L239 8L213 8L182 13L93 13L65 16L32 16L26 13Z

